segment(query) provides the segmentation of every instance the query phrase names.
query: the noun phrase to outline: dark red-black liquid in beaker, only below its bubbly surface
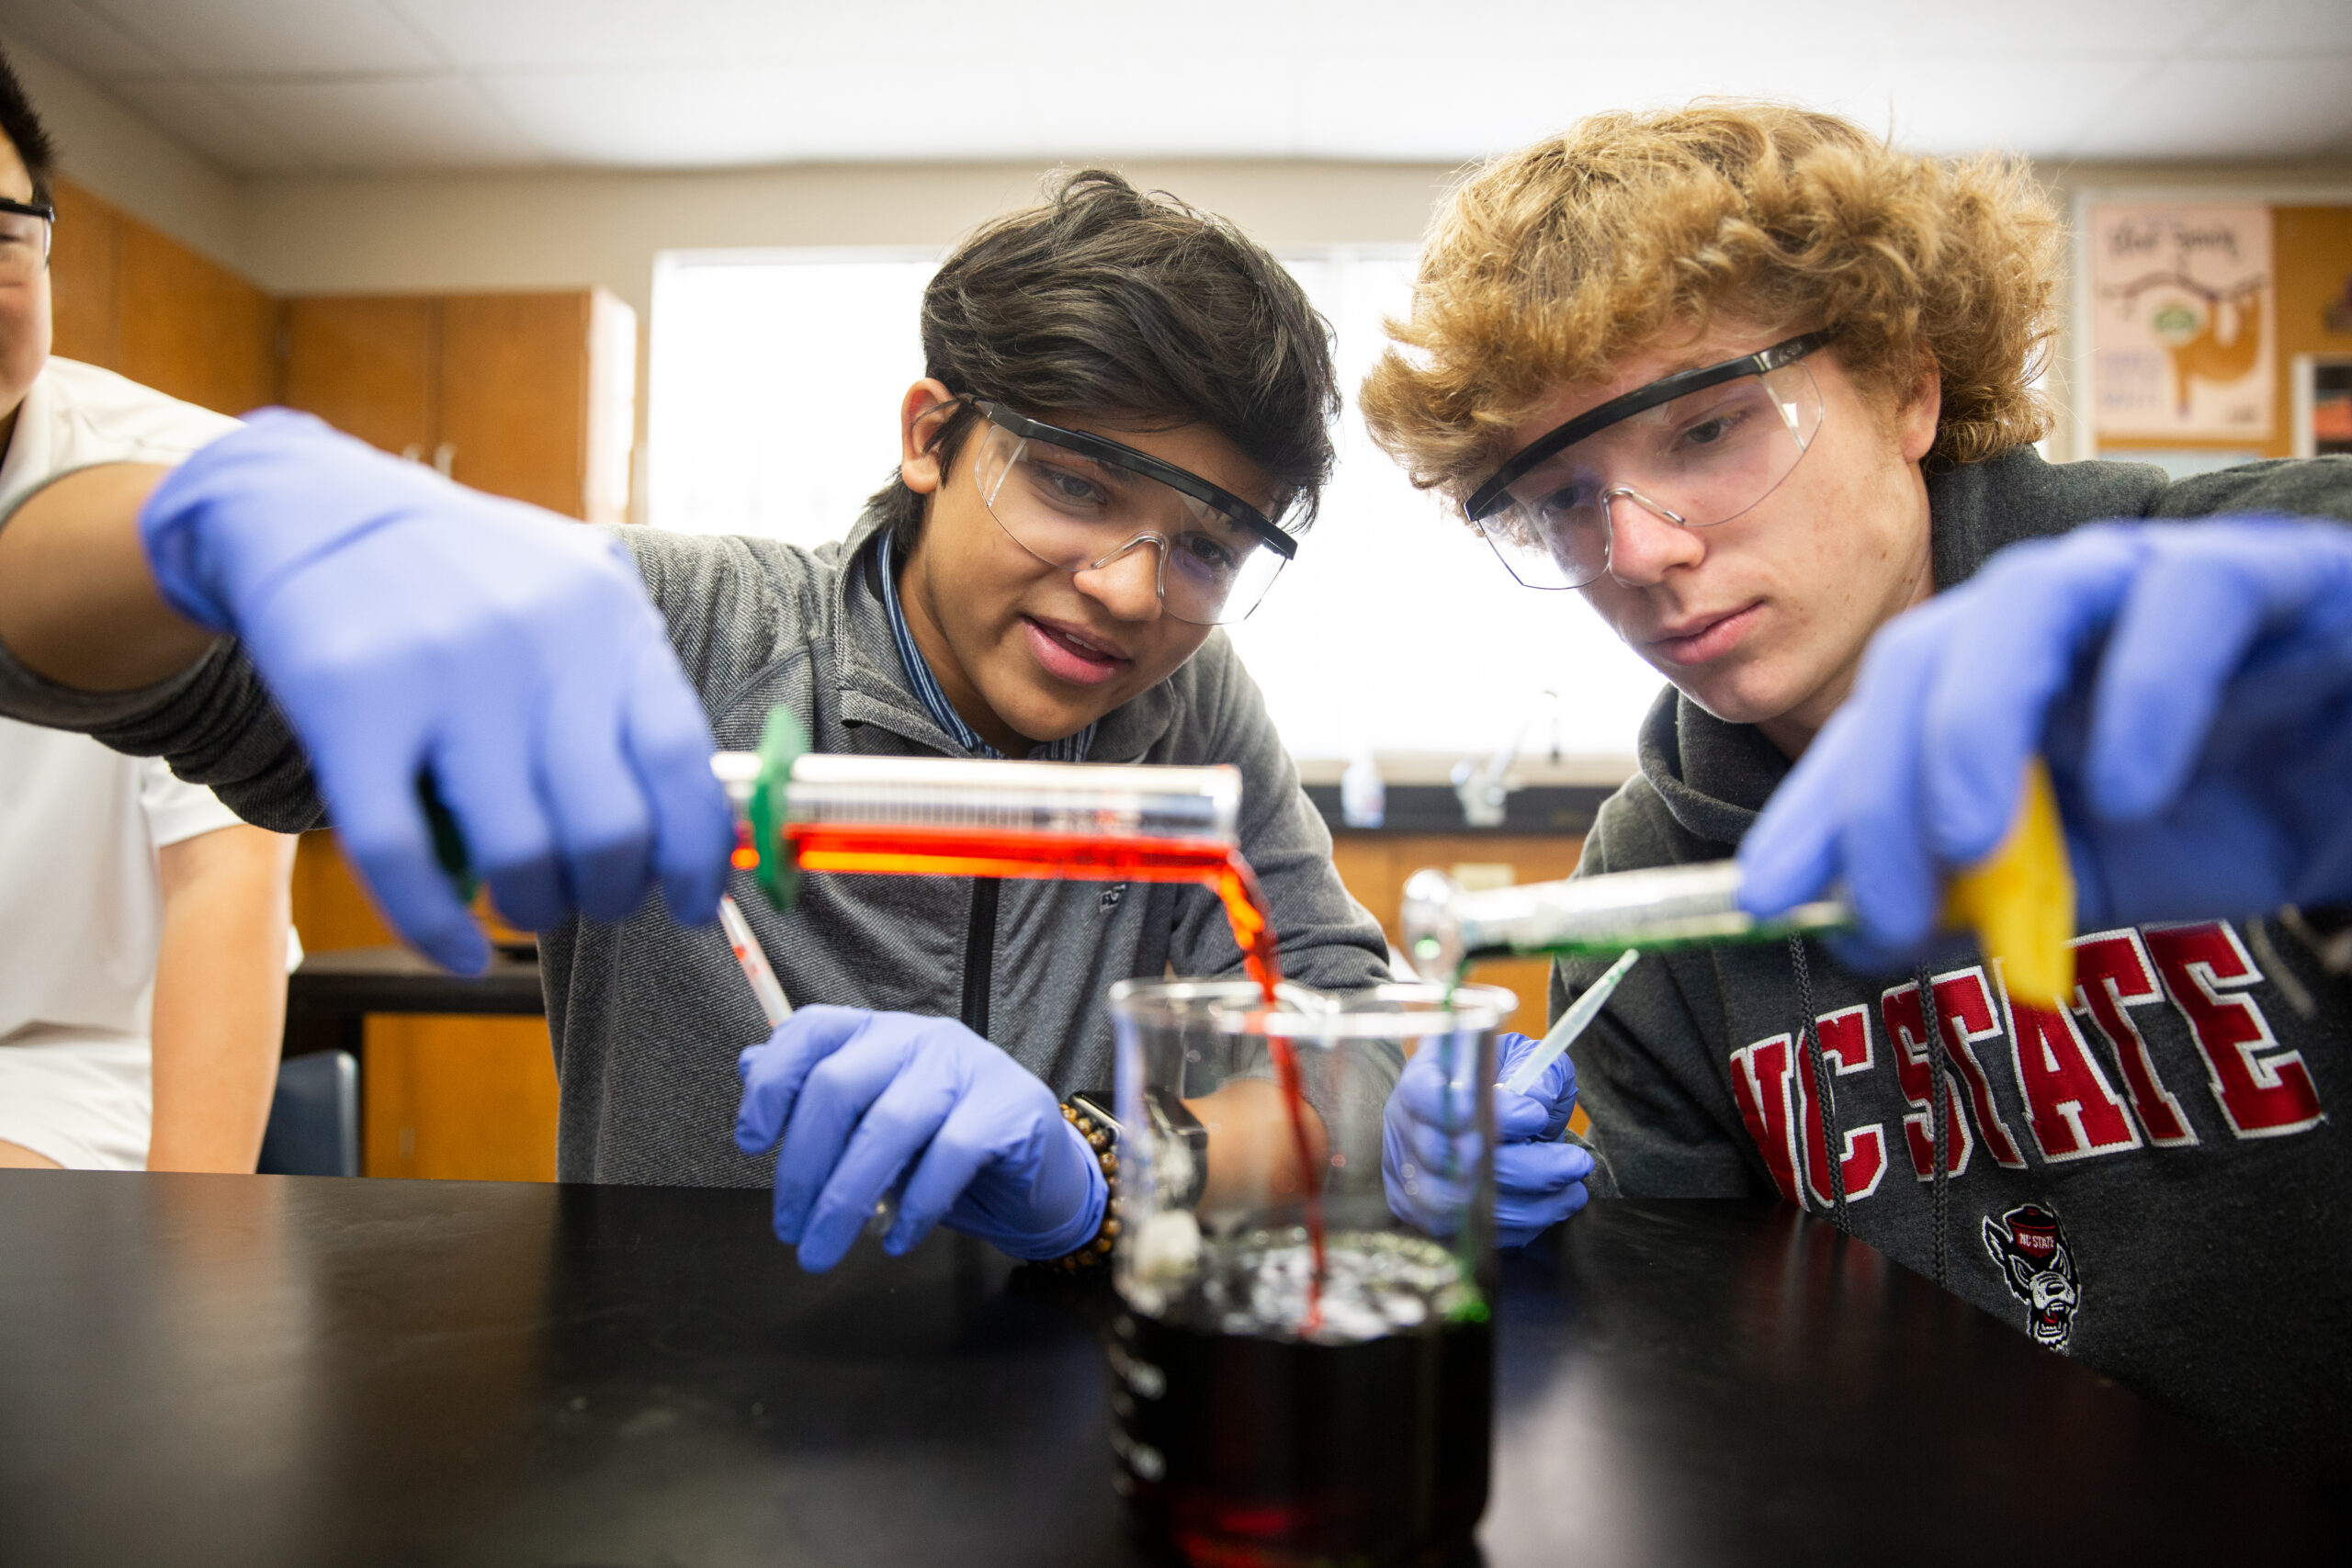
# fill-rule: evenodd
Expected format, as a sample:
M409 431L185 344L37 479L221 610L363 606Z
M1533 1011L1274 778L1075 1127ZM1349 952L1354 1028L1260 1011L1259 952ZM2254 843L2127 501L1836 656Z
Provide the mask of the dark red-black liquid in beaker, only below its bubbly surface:
M1486 1509L1489 1324L1352 1345L1127 1324L1127 1354L1162 1392L1141 1399L1127 1378L1112 1401L1120 1490L1188 1561L1439 1561Z

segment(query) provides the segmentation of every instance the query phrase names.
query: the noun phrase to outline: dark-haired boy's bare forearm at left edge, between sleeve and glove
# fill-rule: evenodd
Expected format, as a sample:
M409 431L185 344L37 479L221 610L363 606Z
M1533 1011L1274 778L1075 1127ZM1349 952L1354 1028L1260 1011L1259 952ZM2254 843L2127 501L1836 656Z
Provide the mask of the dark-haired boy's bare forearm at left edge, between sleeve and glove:
M0 527L0 644L28 670L82 691L132 691L212 646L212 632L162 602L139 543L139 508L167 473L80 468Z

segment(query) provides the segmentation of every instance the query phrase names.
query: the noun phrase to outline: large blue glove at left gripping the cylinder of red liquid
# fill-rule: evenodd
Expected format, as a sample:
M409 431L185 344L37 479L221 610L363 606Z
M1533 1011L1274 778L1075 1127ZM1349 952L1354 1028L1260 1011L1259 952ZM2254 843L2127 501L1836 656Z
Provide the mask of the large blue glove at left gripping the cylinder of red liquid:
M710 724L628 550L270 409L139 531L165 602L235 632L383 914L459 971L489 945L433 853L430 769L499 912L621 919L661 877L706 922L731 820Z

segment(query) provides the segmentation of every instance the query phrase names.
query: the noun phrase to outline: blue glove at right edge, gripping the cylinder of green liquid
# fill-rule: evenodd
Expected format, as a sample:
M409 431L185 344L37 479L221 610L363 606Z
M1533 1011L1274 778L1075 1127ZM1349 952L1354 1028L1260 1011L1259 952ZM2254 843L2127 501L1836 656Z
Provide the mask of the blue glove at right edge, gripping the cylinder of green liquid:
M1915 952L2042 750L2084 931L2352 898L2352 531L2096 524L1891 621L1740 846L1773 914L1844 882Z

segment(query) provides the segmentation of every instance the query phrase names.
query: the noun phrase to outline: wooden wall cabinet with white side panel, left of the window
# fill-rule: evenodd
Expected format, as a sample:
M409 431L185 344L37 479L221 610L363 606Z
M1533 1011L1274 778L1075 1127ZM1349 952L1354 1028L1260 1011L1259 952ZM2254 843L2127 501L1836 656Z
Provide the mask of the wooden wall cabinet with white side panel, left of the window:
M285 402L475 489L621 522L635 353L635 310L604 289L294 299Z

